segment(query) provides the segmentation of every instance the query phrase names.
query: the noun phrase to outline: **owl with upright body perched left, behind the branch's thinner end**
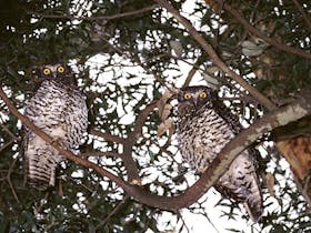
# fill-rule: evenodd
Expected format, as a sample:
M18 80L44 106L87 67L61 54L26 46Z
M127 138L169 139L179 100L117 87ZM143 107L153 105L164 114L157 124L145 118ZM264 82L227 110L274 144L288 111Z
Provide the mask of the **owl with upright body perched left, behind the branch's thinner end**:
M88 128L86 97L63 64L42 67L38 80L40 87L27 102L24 115L56 142L74 151ZM27 182L39 190L53 186L56 169L64 156L27 128L23 155Z

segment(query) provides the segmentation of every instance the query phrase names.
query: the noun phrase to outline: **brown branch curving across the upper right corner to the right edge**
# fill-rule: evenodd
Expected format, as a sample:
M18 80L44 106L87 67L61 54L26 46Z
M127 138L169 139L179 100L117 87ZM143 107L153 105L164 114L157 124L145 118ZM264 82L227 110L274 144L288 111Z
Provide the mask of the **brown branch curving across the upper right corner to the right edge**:
M261 38L262 40L264 40L267 43L270 43L271 45L275 47L277 49L284 51L284 52L289 52L289 53L293 53L297 55L300 55L302 58L307 58L307 59L311 59L311 53L310 52L305 52L304 50L301 49L297 49L297 48L292 48L292 47L288 47L283 43L278 42L277 40L273 40L269 37L267 37L264 33L262 33L261 31L259 31L257 28L252 27L248 20L245 20L237 10L234 10L233 8L231 8L228 3L225 3L223 0L217 0L219 4L223 6L223 9L228 12L230 12L242 26L244 26L251 33L253 33L254 36Z

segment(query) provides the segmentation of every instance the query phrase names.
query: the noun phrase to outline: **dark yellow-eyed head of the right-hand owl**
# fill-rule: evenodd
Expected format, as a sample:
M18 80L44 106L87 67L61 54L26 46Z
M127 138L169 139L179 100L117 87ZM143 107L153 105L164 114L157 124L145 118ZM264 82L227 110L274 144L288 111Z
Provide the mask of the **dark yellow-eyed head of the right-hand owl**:
M204 85L192 85L183 88L178 94L179 108L198 111L207 103L210 103L217 92Z

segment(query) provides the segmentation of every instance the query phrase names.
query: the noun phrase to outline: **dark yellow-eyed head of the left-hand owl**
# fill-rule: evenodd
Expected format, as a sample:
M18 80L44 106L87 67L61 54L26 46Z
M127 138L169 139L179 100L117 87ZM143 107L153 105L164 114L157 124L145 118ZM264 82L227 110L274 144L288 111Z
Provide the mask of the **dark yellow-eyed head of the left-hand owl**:
M76 79L71 70L62 64L44 64L39 70L39 81L54 80L64 84L76 84Z

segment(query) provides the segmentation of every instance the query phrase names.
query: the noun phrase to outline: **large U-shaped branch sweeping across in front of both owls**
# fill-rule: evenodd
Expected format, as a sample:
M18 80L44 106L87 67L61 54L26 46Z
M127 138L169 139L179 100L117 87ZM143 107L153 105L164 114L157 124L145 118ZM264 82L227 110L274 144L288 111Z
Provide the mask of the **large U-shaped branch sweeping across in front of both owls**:
M30 130L37 133L46 142L50 143L54 149L57 149L67 159L77 162L86 168L93 169L97 173L102 176L107 176L111 181L120 185L126 192L131 196L136 197L139 202L151 205L154 207L160 207L163 210L177 210L181 207L187 207L193 204L198 199L200 199L212 185L213 183L227 171L230 163L252 142L254 142L259 136L264 133L278 128L285 125L292 121L297 121L305 115L311 114L311 94L305 93L295 102L274 110L265 114L262 119L253 123L249 129L242 131L237 138L234 138L230 143L228 143L220 154L212 162L211 166L202 174L202 176L183 194L178 196L159 196L143 190L141 186L132 185L120 178L111 174L107 170L98 166L97 164L76 156L70 151L63 149L59 143L54 142L47 133L40 131L28 118L19 113L13 103L9 100L7 94L3 92L0 85L0 97L6 102L10 112L16 115L21 122L27 125Z

